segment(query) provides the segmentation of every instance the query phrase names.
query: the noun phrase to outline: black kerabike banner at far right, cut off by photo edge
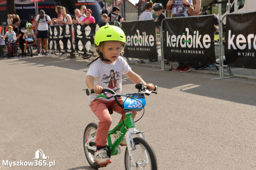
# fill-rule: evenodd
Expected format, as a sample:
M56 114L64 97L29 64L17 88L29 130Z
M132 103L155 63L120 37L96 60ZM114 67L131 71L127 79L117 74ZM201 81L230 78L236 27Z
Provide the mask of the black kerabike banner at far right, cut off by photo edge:
M225 40L229 66L256 69L256 12L227 15Z

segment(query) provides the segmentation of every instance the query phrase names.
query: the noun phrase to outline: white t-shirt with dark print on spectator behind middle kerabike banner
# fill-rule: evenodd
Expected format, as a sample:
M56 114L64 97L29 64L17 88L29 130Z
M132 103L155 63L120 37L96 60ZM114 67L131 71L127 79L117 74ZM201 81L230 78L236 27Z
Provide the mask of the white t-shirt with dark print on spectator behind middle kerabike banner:
M181 3L180 3L181 2ZM192 0L188 0L190 5L193 5ZM183 3L181 0L174 0L172 5L172 16L173 17L187 17L187 9L188 7L183 8Z

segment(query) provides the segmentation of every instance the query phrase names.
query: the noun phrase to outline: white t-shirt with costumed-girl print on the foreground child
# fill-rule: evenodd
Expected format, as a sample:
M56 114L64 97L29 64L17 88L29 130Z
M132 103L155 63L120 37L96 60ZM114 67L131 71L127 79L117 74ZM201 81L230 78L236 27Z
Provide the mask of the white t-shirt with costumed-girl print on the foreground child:
M123 57L119 56L114 63L106 64L98 60L91 63L89 70L87 71L87 76L94 77L94 86L99 85L103 88L112 89L117 94L121 93L122 90L122 76L127 74L131 70L131 67L124 60ZM92 102L98 94L91 94L89 96L89 101ZM102 100L114 100L105 99L100 97Z

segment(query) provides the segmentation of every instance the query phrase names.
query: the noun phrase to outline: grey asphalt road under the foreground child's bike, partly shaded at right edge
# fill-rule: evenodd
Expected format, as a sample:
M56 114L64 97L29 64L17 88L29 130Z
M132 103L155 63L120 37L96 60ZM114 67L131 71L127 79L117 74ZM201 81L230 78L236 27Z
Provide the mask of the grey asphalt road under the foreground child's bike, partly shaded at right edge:
M49 169L3 166L7 160L55 162L50 169L93 169L83 151L84 128L98 122L85 92L87 64L53 56L0 60L1 170ZM158 169L256 168L255 80L211 80L218 76L131 67L159 87L158 94L146 96L145 114L135 124L154 148ZM122 92L136 92L126 76ZM115 126L120 115L114 113L112 119ZM38 149L49 159L33 159ZM124 169L125 147L121 150L101 169Z

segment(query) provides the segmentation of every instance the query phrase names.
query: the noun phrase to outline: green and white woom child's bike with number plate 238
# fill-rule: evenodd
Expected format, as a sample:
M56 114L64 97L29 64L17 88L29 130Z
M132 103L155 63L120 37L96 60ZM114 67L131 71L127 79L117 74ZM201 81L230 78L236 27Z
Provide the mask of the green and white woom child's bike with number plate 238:
M142 83L138 83L135 86L139 91L133 94L116 94L113 90L103 89L103 95L99 95L95 98L104 97L110 99L114 97L115 102L122 108L123 113L125 113L125 119L119 123L116 127L108 132L108 145L105 145L107 154L110 156L117 155L121 153L119 145L126 134L127 147L124 154L124 165L126 170L131 169L157 169L157 162L155 152L152 146L144 139L144 132L140 132L135 128L132 111L141 111L145 104L145 96L151 93L157 94L157 86L155 86L154 91L149 91L146 86ZM91 89L86 89L86 94L91 95L94 93ZM120 104L118 97L122 97L124 104ZM111 111L110 111L111 114ZM93 156L96 150L96 133L98 124L90 123L84 130L83 135L83 145L86 159L90 166L98 169L100 167L105 167L106 165L98 165L94 162ZM114 142L111 141L111 135L116 134ZM132 138L132 135L137 135L137 137Z

